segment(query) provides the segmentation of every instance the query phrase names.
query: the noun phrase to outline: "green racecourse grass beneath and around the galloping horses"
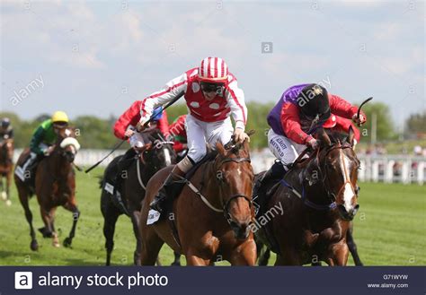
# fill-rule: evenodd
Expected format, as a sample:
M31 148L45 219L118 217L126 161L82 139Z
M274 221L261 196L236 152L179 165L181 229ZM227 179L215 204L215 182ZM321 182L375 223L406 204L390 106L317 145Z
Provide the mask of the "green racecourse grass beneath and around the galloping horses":
M54 248L51 239L43 239L37 232L38 252L30 250L29 226L13 184L12 206L6 207L0 202L0 265L103 265L103 219L96 178L99 175L102 175L102 169L95 169L90 175L77 172L76 196L82 214L72 248ZM364 264L426 265L426 187L372 183L361 183L360 187L360 209L355 218L354 236ZM30 205L34 226L38 229L42 221L35 197ZM71 213L58 208L56 227L61 243L67 237L71 223ZM129 218L122 215L117 222L112 265L131 265L134 249ZM171 264L173 253L169 247L164 246L160 256L164 265ZM274 258L272 256L270 264ZM350 265L353 265L351 258Z

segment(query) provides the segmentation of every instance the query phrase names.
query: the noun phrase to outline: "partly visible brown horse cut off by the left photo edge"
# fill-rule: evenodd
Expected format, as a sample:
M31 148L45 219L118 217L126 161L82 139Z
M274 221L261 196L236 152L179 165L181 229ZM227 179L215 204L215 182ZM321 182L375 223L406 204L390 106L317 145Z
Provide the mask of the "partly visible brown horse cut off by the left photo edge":
M2 199L9 206L10 200L10 187L13 171L13 139L5 139L0 142L0 194ZM4 185L4 178L6 178Z

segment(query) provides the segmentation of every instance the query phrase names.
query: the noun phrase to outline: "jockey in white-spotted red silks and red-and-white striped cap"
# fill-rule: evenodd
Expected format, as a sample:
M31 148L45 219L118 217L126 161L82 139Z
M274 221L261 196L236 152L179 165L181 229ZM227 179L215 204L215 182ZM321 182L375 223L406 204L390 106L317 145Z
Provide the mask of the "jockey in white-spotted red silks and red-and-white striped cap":
M189 110L186 117L188 135L188 154L174 166L169 177L165 179L155 200L150 204L157 212L162 212L161 205L169 195L180 190L184 183L182 177L207 153L206 143L215 149L217 141L226 144L234 134L235 142L242 143L249 139L245 134L247 108L244 92L238 88L235 76L228 72L222 58L206 57L200 67L192 68L168 82L164 89L151 94L142 102L142 113L138 127L144 126L157 106L172 101L181 93ZM234 118L232 126L230 115Z

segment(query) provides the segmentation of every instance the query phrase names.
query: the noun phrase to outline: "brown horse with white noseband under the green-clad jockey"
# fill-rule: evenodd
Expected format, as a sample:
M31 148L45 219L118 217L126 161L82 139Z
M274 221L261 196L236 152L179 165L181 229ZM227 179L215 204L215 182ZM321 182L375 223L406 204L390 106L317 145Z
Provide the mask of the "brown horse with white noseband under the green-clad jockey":
M59 247L58 233L54 226L55 211L58 206L63 206L73 213L73 226L67 239L64 239L64 246L70 247L75 236L75 227L80 212L75 203L75 171L72 166L79 148L80 144L75 139L74 130L62 128L58 132L53 152L41 160L36 169L34 189L40 204L41 219L45 224L45 227L41 228L40 232L44 238L53 238L52 244L54 247ZM30 150L25 149L16 166L22 165L29 153ZM14 175L14 181L25 211L25 217L30 224L30 247L31 250L35 251L39 248L39 244L32 227L32 213L29 206L32 189L27 182L23 182L16 174Z

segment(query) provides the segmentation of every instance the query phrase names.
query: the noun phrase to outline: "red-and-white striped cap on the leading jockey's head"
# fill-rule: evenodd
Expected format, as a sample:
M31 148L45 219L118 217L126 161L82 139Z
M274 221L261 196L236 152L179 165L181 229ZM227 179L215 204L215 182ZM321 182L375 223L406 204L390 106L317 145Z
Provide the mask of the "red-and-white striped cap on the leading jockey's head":
M199 78L202 82L226 82L227 65L220 57L206 57L201 61Z

